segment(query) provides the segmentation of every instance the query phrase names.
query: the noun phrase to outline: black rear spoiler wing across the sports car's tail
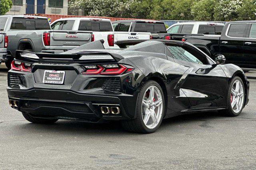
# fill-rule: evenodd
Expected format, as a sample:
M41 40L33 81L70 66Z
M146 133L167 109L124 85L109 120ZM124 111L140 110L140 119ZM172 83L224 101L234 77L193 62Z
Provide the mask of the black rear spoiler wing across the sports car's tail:
M82 56L85 55L110 55L116 62L120 61L124 57L122 57L119 54L116 53L110 53L110 52L101 52L101 51L82 51L74 54L51 54L51 53L34 53L34 52L29 52L29 51L21 51L21 50L16 50L16 55L15 58L18 60L30 60L30 61L38 61L38 60L74 60L74 61L83 61L83 60L98 60L98 59L80 59ZM104 59L104 58L102 58ZM108 58L107 58L108 59Z

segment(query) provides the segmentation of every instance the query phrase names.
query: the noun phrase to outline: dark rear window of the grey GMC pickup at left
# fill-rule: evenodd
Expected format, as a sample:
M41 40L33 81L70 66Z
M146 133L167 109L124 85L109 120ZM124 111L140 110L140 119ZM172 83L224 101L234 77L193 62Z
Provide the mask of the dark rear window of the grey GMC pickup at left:
M47 19L12 18L11 30L50 30Z

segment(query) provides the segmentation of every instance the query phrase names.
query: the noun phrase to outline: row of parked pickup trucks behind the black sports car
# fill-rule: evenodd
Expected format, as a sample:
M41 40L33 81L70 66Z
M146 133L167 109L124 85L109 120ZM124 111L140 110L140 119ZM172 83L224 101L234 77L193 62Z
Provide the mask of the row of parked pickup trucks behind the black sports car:
M8 68L16 49L58 54L96 40L104 40L106 49L118 49L115 42L120 40L162 39L192 43L212 59L222 54L226 62L244 71L256 69L254 21L228 22L225 26L182 22L167 30L164 22L153 20L61 18L50 25L47 18L40 16L0 16L0 22L0 61Z

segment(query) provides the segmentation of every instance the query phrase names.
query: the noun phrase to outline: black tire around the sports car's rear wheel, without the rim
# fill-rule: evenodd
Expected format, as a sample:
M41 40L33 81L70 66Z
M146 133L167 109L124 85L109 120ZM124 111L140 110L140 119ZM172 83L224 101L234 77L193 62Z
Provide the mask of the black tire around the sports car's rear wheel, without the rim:
M143 100L143 96L144 93L146 92L146 90L148 89L148 87L155 85L156 87L158 87L158 89L160 89L160 92L162 94L162 100L163 100L163 109L162 109L162 116L160 118L160 121L158 123L158 125L155 128L148 128L146 127L146 125L143 122L143 118L142 118L142 100ZM133 120L124 120L121 122L122 127L129 131L129 132L139 132L139 133L153 133L155 132L161 125L162 123L162 119L164 117L164 111L165 111L165 103L164 103L164 93L162 91L161 86L156 83L156 81L147 81L146 83L144 83L144 85L142 85L142 87L140 88L139 94L138 94L138 101L137 101L137 106L136 106L136 119Z

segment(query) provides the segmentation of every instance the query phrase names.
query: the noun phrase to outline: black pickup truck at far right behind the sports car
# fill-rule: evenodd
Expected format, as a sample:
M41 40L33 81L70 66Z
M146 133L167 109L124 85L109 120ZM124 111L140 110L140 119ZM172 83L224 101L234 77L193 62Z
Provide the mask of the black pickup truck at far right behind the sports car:
M227 22L220 37L184 36L183 41L212 58L222 54L226 63L238 65L244 71L256 70L256 21Z

